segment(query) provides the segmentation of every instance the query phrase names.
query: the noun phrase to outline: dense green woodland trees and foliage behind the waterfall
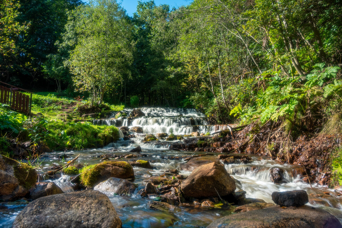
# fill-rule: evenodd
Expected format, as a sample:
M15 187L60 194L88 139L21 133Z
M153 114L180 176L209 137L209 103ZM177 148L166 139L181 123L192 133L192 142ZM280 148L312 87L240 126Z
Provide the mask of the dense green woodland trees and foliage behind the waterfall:
M147 1L129 17L115 0L2 0L0 80L313 131L340 119L341 11L337 0Z

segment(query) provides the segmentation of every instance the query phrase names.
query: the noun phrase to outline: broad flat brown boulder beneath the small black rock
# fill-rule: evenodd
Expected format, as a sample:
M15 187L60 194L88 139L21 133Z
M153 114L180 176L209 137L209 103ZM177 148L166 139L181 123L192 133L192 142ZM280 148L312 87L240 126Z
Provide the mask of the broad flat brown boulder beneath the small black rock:
M224 216L207 228L342 228L329 212L308 206L267 207L261 210Z

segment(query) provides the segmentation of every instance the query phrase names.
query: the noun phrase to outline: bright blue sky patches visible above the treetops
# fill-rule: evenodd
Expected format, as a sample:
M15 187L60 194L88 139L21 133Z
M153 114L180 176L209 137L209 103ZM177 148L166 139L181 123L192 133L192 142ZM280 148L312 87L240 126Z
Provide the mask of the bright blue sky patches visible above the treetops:
M89 2L89 0L83 0L83 2ZM120 2L120 0L117 0L117 2ZM188 5L190 2L192 2L192 0L154 0L154 2L156 5L168 4L170 5L170 9L172 9L173 6L177 8L181 5ZM121 3L122 7L126 9L129 16L133 16L133 13L136 11L137 4L137 0L122 0Z

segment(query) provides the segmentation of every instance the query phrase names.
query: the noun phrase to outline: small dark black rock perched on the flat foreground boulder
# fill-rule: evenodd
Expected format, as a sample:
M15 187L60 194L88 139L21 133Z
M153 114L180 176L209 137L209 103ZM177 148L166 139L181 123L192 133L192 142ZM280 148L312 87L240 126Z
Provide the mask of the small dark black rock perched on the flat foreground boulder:
M272 193L272 200L280 206L303 206L309 202L307 193L304 190L275 191Z

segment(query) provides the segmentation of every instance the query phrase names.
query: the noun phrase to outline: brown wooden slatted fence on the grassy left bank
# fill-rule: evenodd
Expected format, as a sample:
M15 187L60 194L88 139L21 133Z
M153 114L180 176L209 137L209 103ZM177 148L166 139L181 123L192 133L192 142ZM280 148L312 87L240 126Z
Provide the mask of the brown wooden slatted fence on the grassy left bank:
M16 111L31 115L32 93L4 82L0 83L11 87L0 85L0 103L7 104ZM19 90L29 92L30 95L19 92Z

